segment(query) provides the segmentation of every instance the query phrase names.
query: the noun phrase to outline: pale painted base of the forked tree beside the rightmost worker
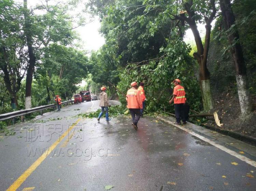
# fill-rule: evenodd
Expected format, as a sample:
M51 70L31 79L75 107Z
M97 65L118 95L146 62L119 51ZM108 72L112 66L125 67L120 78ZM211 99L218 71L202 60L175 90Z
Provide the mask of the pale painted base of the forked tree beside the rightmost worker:
M210 111L214 108L214 102L211 93L210 80L201 81L201 91L203 98L203 108L205 111Z

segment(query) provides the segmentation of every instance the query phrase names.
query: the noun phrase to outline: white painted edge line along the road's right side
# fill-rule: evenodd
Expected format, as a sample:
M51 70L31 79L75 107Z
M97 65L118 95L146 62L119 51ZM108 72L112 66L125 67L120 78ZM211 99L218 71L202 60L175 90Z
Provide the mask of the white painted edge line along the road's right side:
M240 160L242 160L242 161L244 161L244 162L246 162L246 163L248 163L248 164L251 164L253 167L256 167L256 161L254 161L254 160L251 160L251 159L249 159L249 158L247 158L247 157L245 157L245 156L243 156L243 155L240 155L240 154L238 154L238 153L236 153L236 152L234 152L234 151L228 149L228 148L225 147L225 146L222 146L222 145L220 145L220 144L215 143L214 141L212 141L212 140L210 140L210 139L208 139L208 138L205 138L205 137L203 137L203 136L201 136L201 135L198 135L197 133L195 133L195 132L193 132L193 131L191 131L191 130L185 128L185 127L182 127L182 126L180 126L180 125L175 125L175 124L173 124L171 121L168 121L168 120L163 119L163 118L161 118L161 117L157 117L157 118L158 118L158 119L161 119L162 121L165 121L165 122L167 122L167 123L170 123L171 125L173 125L173 126L175 126L175 127L178 127L178 128L180 128L180 129L182 129L183 131L186 131L186 132L190 133L191 135L194 135L194 136L198 137L199 139L202 139L203 141L210 143L210 144L213 145L213 146L216 146L218 149L221 149L222 151L225 151L226 153L228 153L228 154L230 154L230 155L232 155L232 156L234 156L234 157L237 157L238 159L240 159Z

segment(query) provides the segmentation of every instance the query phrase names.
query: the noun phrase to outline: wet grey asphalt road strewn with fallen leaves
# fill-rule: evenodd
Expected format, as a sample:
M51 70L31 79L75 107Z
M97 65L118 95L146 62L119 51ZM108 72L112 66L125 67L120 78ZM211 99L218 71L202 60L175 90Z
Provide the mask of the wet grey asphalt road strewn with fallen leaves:
M256 190L255 167L159 119L142 118L134 131L130 116L99 123L96 118L74 117L99 108L98 104L63 107L61 112L12 126L14 136L1 135L0 190L8 189L38 162L40 152L59 139L17 190L100 191L106 185L114 186L113 191ZM231 143L223 144L241 152ZM255 147L233 144L243 145L248 150L244 155L256 160Z

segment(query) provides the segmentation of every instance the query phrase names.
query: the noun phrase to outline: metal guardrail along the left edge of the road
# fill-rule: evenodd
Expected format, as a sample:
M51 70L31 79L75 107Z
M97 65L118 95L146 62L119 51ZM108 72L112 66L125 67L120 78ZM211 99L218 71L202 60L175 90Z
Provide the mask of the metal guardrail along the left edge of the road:
M62 102L61 105L67 104L67 103L73 103L73 101L74 100L65 101L65 102ZM43 106L39 106L39 107L33 107L30 109L23 109L23 110L19 110L19 111L9 112L6 114L1 114L0 121L6 120L6 119L12 119L12 118L18 117L18 116L24 116L26 114L31 114L33 112L42 111L44 109L48 109L48 108L55 107L55 106L57 106L57 105L56 104L43 105Z

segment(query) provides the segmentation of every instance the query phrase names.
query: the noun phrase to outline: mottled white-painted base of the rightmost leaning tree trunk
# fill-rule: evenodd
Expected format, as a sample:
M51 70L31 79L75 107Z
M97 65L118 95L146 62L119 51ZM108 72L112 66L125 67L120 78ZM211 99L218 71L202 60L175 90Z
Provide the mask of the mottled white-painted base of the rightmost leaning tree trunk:
M252 111L252 104L250 103L250 93L247 88L247 80L245 75L236 75L237 91L241 108L241 115L246 116Z

